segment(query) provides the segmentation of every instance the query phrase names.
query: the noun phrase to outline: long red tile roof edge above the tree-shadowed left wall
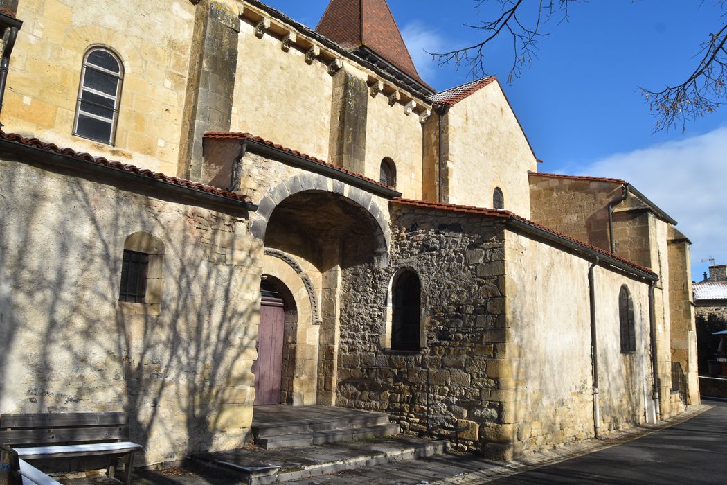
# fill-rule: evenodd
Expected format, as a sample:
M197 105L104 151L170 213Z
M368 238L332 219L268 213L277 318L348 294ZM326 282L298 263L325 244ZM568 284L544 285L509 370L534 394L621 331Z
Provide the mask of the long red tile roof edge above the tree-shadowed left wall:
M6 140L12 143L17 143L18 145L25 145L32 148L39 148L40 150L48 151L50 153L70 157L71 159L90 161L92 163L103 165L104 167L109 167L111 169L116 169L121 172L142 175L150 179L158 180L161 183L178 185L180 187L190 188L195 191L212 193L215 196L225 197L226 199L234 199L236 201L242 201L247 204L252 204L252 200L248 196L244 196L230 191L224 191L220 188L212 187L211 185L192 182L191 180L179 177L171 177L169 175L164 175L161 172L152 172L149 169L142 169L136 167L135 165L122 164L120 161L105 159L103 156L92 156L89 155L89 153L77 152L72 148L60 148L58 145L55 145L55 143L44 143L41 142L41 140L39 140L38 138L25 138L15 133L0 132L0 140Z

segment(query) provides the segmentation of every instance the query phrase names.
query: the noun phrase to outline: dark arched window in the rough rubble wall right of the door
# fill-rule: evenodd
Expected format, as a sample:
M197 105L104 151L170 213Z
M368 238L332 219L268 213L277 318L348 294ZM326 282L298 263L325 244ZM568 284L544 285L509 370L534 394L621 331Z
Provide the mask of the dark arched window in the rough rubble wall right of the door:
M412 270L399 274L392 289L392 350L421 348L422 284Z

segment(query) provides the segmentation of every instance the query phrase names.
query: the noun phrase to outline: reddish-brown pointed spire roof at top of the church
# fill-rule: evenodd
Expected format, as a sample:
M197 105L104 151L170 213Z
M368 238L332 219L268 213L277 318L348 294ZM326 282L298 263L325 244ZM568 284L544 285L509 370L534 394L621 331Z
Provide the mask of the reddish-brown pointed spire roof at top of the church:
M426 86L386 0L331 0L316 31L346 49L369 49Z

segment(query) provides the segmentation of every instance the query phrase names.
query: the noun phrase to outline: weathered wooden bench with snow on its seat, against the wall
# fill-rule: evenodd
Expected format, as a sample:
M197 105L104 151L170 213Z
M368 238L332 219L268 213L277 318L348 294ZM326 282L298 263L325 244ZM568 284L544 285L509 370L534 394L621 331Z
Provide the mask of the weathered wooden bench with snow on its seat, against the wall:
M116 480L129 485L134 452L142 446L127 441L128 423L123 412L1 414L0 444L12 446L21 460L108 456L111 478L121 460L124 478Z

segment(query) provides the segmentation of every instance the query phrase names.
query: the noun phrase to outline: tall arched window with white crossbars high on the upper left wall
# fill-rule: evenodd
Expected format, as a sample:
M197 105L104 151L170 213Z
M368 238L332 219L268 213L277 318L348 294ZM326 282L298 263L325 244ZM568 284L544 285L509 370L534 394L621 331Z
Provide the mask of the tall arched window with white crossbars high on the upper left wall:
M123 81L124 66L118 55L105 47L86 52L73 135L113 145Z

